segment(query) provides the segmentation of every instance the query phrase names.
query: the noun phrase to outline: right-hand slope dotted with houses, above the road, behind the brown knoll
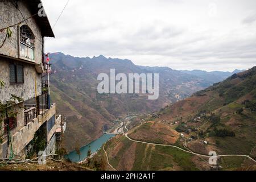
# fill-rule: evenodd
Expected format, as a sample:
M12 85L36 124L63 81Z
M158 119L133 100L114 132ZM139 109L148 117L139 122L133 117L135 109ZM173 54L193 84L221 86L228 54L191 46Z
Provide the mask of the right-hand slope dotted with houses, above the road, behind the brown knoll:
M218 154L251 155L255 158L256 67L197 92L191 98L163 110L164 123L176 123L179 132L198 138L188 144L205 153L208 140Z

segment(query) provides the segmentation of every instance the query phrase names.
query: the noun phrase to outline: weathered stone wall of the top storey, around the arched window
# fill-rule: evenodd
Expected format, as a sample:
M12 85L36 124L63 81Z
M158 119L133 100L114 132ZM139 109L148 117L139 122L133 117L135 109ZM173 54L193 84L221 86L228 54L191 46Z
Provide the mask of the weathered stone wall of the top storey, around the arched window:
M27 5L23 1L18 1L18 8L22 12L24 18L28 18L32 16L30 11L28 10ZM20 14L18 9L15 8L13 3L10 1L0 1L0 28L9 27L10 25L19 23L23 20L22 15ZM13 32L10 39L7 39L4 46L0 49L0 55L6 55L11 56L15 58L19 58L18 52L19 52L19 35L18 30L19 27L23 24L28 25L30 29L32 30L33 34L36 36L35 38L35 60L30 60L36 64L42 63L42 34L40 31L40 28L36 24L35 18L30 18L26 22L20 23L17 26L11 27L10 30ZM0 32L0 43L2 44L3 40L6 36L6 30L3 32ZM24 59L26 60L26 59Z

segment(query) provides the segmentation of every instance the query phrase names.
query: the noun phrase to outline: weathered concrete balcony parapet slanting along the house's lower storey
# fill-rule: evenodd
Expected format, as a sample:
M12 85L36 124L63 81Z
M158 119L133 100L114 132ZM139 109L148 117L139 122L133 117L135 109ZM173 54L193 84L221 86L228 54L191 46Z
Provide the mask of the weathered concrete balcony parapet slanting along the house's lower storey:
M51 109L46 111L46 114L39 115L38 118L35 118L32 122L28 123L27 126L22 127L18 132L11 136L13 142L13 152L14 154L23 153L24 148L31 142L34 138L36 131L53 115L56 114L55 104L51 106ZM1 145L0 145L1 148ZM1 156L1 154L0 154Z

